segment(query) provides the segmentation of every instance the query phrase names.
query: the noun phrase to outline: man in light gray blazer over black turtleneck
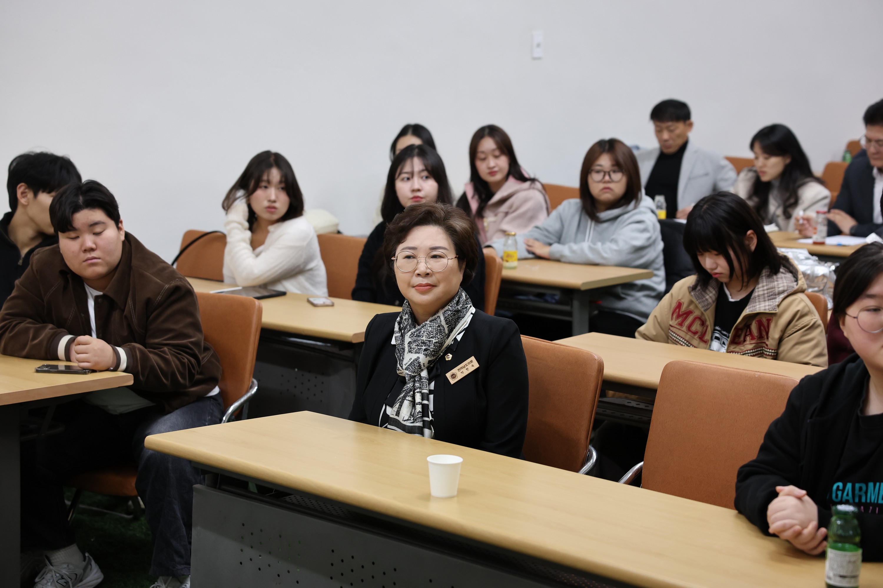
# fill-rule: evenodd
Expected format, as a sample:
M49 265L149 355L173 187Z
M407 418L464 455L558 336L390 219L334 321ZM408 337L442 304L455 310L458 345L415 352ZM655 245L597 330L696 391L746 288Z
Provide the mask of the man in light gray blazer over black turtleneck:
M700 198L733 189L733 165L689 140L693 121L685 102L662 100L653 107L650 120L660 146L641 149L635 157L645 194L651 198L665 197L668 219L686 219Z

